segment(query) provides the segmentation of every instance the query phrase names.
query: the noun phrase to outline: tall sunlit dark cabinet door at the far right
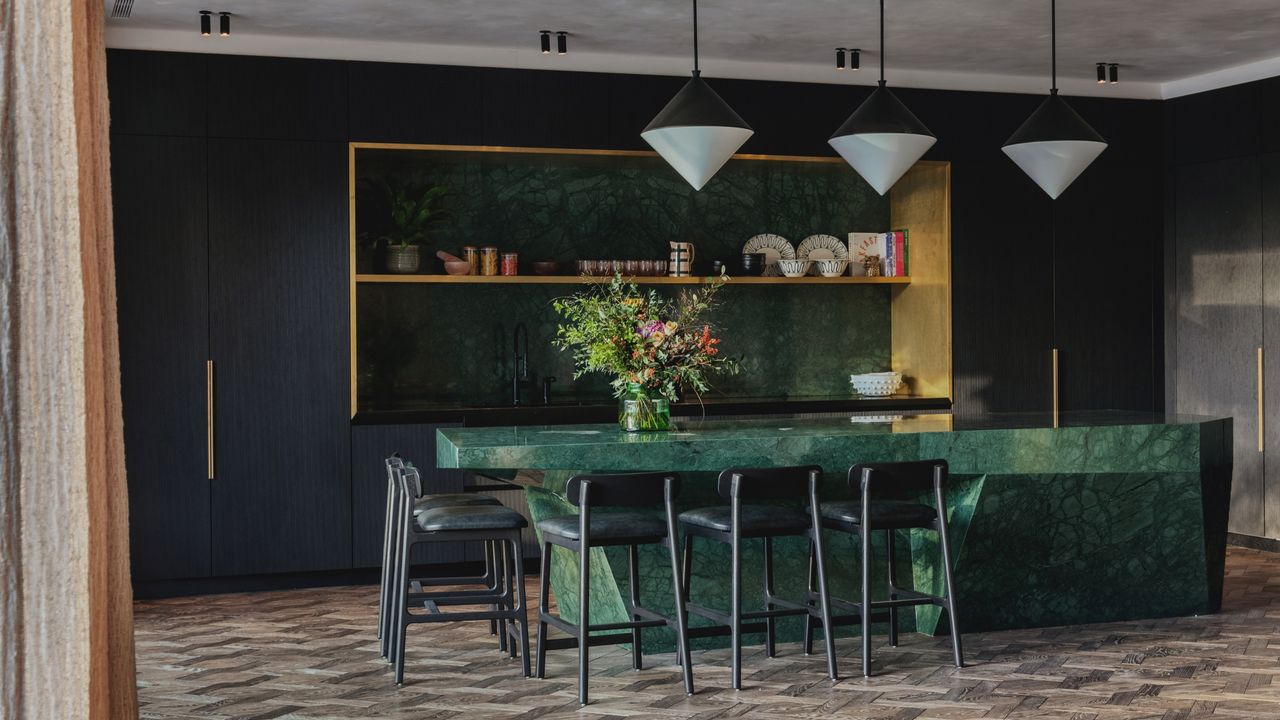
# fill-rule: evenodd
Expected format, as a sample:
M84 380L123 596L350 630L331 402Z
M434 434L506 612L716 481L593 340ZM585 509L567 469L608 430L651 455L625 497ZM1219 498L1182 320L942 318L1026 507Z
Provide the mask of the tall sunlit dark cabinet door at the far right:
M1261 536L1257 348L1262 343L1257 156L1176 170L1178 411L1235 419L1234 533Z

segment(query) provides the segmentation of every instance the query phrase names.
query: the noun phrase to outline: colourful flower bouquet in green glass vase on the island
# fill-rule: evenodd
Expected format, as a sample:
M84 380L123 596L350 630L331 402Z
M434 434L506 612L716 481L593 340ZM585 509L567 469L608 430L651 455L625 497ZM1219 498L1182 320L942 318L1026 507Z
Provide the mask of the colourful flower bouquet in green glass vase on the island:
M609 284L554 302L564 318L556 346L573 352L575 379L613 375L622 429L669 429L671 402L681 389L701 396L710 387L708 375L739 370L737 361L719 354L719 340L703 319L722 286L714 282L667 299L614 274Z

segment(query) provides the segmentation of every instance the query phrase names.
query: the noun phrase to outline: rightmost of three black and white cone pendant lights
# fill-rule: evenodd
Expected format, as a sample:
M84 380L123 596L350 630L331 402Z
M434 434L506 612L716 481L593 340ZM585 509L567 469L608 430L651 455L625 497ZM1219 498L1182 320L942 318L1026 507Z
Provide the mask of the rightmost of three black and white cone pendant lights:
M1056 199L1107 143L1057 95L1057 3L1050 0L1052 87L1048 97L1005 142L1004 151L1041 190Z

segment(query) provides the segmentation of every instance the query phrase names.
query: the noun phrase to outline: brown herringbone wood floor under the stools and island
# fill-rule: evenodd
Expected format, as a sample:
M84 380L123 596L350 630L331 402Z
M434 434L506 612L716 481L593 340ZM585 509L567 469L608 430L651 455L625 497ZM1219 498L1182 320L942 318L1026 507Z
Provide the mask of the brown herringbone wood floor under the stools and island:
M575 652L552 652L545 680L520 676L488 624L410 629L396 688L372 637L376 588L189 597L136 606L145 719L269 717L1153 717L1280 719L1280 555L1231 548L1222 614L965 635L877 638L879 673L858 675L856 641L831 683L820 655L744 652L741 692L727 651L694 655L687 698L671 655L631 670L622 648L593 652L593 703L579 710Z

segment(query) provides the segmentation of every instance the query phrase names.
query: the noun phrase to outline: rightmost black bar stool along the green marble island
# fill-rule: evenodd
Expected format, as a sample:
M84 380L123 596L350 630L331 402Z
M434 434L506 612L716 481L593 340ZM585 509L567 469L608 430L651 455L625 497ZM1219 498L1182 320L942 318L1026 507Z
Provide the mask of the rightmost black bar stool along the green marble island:
M859 536L861 559L861 602L831 598L837 609L852 614L837 615L833 621L845 624L859 621L863 626L863 675L872 675L870 624L877 610L888 610L888 643L897 646L897 609L915 605L936 605L947 611L951 625L951 651L956 667L964 667L960 646L960 621L956 619L955 583L951 579L951 538L947 537L947 461L920 460L915 462L859 464L849 469L849 488L858 500L823 502L822 527ZM934 505L916 502L932 491ZM942 577L946 597L918 592L897 585L896 533L900 529L919 528L938 533L942 546ZM872 601L872 533L884 530L886 560L888 561L888 600ZM813 588L810 585L810 593ZM815 596L810 594L815 600ZM881 616L882 618L882 616ZM805 647L813 642L813 623L805 621ZM827 633L829 638L831 634ZM827 642L831 642L829 639ZM829 652L829 650L828 650Z

